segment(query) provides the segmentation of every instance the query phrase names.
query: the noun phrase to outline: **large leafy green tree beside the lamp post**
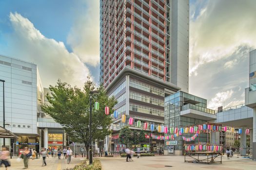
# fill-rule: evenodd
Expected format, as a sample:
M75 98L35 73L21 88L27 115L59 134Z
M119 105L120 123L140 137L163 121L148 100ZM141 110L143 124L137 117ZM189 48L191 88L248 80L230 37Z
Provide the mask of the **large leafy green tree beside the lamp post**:
M92 104L99 102L99 110L92 111L92 140L104 139L111 134L109 127L112 118L104 113L105 106L109 106L110 114L117 103L108 98L102 86L96 88L92 81L87 81L83 89L71 87L58 80L57 85L49 87L51 94L46 98L50 104L42 104L43 112L49 114L56 122L63 126L66 133L76 142L84 143L87 158L89 157L89 117L90 117L90 91L98 90L92 94Z

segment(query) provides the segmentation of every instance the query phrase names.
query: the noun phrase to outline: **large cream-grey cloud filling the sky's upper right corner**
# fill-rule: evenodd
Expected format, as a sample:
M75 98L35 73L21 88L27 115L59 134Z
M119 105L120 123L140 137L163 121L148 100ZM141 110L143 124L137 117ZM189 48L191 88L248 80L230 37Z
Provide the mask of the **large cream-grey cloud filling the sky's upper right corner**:
M199 76L199 67L228 58L241 46L256 48L255 5L255 0L210 0L194 9L200 12L191 15L190 75Z

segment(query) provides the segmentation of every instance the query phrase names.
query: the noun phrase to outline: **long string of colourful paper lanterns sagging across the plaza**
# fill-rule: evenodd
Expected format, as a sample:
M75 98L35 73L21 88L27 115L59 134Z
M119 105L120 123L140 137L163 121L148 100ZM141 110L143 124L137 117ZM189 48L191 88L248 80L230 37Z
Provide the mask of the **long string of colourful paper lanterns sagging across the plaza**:
M95 102L94 108L95 108L95 110L99 109L99 102ZM105 107L105 115L107 115L107 116L109 115L109 107L108 106ZM118 118L118 111L117 110L114 111L113 117L115 119ZM123 114L121 116L121 121L122 122L126 121L126 115L125 114ZM133 117L129 118L128 124L129 125L134 124L134 118ZM142 124L141 121L138 120L136 126L141 127L141 124ZM143 123L143 129L147 130L147 128L148 128L148 123L147 122ZM155 124L150 124L150 130L155 131ZM164 134L168 133L168 127L167 126L158 125L157 130L158 130L158 133L164 133ZM190 127L185 127L185 128L182 127L182 128L179 128L179 129L177 127L170 127L169 130L170 130L169 131L170 134L174 134L173 136L178 136L178 135L188 134L188 133L190 133L190 134L199 134L201 132L207 132L207 130L213 131L213 132L217 132L217 131L226 132L227 127L226 126L222 127L221 125L215 125L215 124L200 124L200 125L190 126ZM231 132L235 132L235 128L231 128ZM242 134L242 129L241 128L238 129L238 134L239 135ZM250 129L246 129L245 134L249 135L250 134ZM157 136L157 137L161 138L160 136ZM195 135L190 137L190 138L185 138L183 136L183 139L185 138L185 140L190 140L191 141L191 140L194 140L196 137L197 136L195 136ZM170 136L170 138L174 139L172 136Z

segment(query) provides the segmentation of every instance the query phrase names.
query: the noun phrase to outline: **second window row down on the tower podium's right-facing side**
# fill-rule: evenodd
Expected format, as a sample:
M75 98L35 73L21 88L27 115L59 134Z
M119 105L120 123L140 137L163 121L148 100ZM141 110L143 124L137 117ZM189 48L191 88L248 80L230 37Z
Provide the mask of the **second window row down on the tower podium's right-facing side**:
M136 93L136 92L133 92L133 91L130 92L129 96L130 96L131 99L141 101L141 102L156 104L158 106L163 106L163 103L164 103L163 100L156 99L156 98L153 98L153 97L150 97L150 96L147 96L147 95L144 95L144 94Z

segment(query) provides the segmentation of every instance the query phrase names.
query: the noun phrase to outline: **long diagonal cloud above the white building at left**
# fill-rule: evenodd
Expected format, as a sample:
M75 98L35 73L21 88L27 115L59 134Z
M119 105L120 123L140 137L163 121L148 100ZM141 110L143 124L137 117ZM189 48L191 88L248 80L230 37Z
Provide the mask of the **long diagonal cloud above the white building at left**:
M63 42L45 37L20 14L9 17L14 32L8 35L8 55L37 64L43 86L55 85L58 78L83 86L90 71L75 53L67 51Z

